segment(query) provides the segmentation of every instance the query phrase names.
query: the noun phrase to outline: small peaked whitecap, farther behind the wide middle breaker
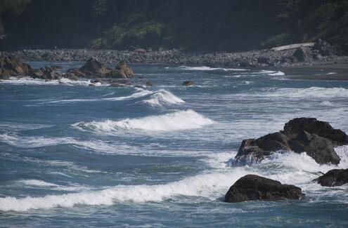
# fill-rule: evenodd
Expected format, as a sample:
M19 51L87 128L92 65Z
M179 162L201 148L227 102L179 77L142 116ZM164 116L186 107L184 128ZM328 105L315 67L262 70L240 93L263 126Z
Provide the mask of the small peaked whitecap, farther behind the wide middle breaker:
M162 103L165 103L167 105L176 105L180 103L184 103L185 101L181 100L180 98L176 97L172 93L168 92L167 90L160 89L150 95L150 98L147 100L143 100L143 103L146 103L150 106L161 106Z

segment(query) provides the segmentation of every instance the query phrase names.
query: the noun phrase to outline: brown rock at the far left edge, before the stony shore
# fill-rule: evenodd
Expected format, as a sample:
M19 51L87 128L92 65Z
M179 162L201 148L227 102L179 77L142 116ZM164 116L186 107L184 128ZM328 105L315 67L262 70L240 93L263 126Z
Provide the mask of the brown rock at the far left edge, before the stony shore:
M28 76L31 70L30 65L12 56L0 58L0 79L9 79L10 76Z

